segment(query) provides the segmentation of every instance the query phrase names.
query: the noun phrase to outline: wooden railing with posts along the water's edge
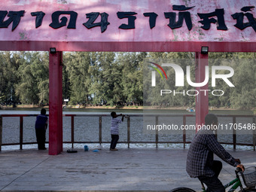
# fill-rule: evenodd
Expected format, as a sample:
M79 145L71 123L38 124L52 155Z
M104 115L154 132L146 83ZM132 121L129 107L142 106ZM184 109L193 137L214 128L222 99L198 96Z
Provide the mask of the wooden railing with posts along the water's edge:
M38 114L0 114L0 151L2 150L2 146L4 145L20 145L20 150L23 149L23 145L32 145L36 144L36 142L23 142L23 118L24 117L36 117ZM155 124L158 124L158 119L159 117L181 117L183 120L183 125L187 124L187 117L195 117L194 114L151 114L148 115L151 117L155 118ZM217 115L218 117L232 117L233 118L233 124L236 124L236 118L237 117L249 117L252 119L252 123L255 125L255 115ZM20 142L15 142L15 143L2 143L2 130L3 130L3 123L2 119L3 117L20 117ZM109 143L109 142L104 142L102 141L102 117L110 117L110 115L107 114L63 114L63 117L71 117L71 140L70 142L63 142L63 143L69 143L72 145L72 148L74 148L74 144L79 144L79 143L99 143L102 145L102 143ZM88 141L82 141L78 142L75 141L75 117L99 117L99 140L97 142L88 142ZM130 144L139 144L139 143L144 143L144 144L155 144L156 148L158 147L158 144L183 144L184 148L186 144L189 144L190 142L186 140L186 130L183 130L183 139L182 141L178 142L160 142L159 141L159 133L156 130L155 132L155 139L154 142L148 141L148 142L142 142L142 141L131 141L130 140L130 119L133 117L143 117L142 114L130 114L129 116L126 116L127 120L127 138L125 142L119 142L119 143L126 143L128 145L128 148L130 148ZM221 144L227 144L227 145L233 145L233 148L236 149L236 145L248 145L248 146L253 146L253 150L255 151L255 145L256 145L256 130L251 129L252 131L252 142L251 143L237 143L236 142L236 129L233 129L233 142L221 142ZM216 136L218 134L216 133Z

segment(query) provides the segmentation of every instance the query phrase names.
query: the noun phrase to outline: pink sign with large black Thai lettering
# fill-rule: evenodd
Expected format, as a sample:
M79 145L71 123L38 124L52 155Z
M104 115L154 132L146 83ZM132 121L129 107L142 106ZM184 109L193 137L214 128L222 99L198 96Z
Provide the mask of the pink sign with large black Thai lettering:
M0 41L255 42L254 0L8 0Z

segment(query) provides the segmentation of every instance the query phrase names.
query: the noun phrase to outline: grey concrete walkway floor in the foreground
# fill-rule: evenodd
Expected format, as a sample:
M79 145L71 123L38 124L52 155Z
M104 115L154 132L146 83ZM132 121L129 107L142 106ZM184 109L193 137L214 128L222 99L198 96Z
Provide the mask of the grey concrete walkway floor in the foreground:
M256 166L256 151L229 151L245 166ZM185 171L187 149L78 150L49 156L28 149L0 152L0 191L169 191L200 190L197 178ZM224 163L221 181L234 178Z

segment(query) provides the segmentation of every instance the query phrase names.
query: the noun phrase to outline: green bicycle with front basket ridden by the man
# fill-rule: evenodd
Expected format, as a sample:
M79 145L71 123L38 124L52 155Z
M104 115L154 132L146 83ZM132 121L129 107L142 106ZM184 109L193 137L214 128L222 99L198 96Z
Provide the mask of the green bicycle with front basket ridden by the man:
M256 167L251 166L245 169L244 172L242 172L241 169L236 169L236 178L233 179L233 181L230 181L228 184L225 184L224 187L227 189L227 187L230 187L230 190L228 192L235 191L238 187L240 187L241 190L239 192L256 192L255 186L256 186ZM245 184L245 188L242 187L242 181L240 179L242 177L242 180ZM204 186L203 182L202 184L202 192L206 192L206 187ZM173 190L170 190L170 192L196 192L193 189L187 188L187 187L178 187Z

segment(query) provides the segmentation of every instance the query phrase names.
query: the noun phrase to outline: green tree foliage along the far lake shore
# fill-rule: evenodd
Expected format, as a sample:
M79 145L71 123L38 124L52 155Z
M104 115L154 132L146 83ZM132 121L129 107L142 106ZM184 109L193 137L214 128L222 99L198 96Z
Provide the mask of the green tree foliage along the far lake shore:
M63 99L83 105L143 105L143 102L162 107L195 105L194 96L160 97L160 90L151 89L148 85L151 77L143 75L143 68L145 60L155 59L178 63L185 72L184 77L186 66L190 66L191 81L195 82L194 53L67 52L63 54ZM225 94L209 94L209 105L255 108L255 60L254 53L209 53L209 69L211 66L231 66L235 71L230 78L235 87L216 81L216 87ZM47 104L48 65L47 52L0 52L0 102ZM194 89L187 81L184 87L175 87L175 78L171 78L175 77L173 70L167 71L167 76L168 81L157 82L176 91Z

